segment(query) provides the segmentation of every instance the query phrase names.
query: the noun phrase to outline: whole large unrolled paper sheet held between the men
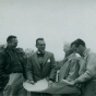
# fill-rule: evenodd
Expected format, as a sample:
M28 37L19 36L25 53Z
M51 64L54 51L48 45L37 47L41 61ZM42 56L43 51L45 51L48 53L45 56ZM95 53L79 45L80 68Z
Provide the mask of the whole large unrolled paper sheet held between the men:
M35 85L29 83L23 83L23 86L28 92L40 92L49 94L80 94L80 88L68 86L70 82L63 80L62 82L56 82L52 86L48 87L48 82L45 80L38 81Z

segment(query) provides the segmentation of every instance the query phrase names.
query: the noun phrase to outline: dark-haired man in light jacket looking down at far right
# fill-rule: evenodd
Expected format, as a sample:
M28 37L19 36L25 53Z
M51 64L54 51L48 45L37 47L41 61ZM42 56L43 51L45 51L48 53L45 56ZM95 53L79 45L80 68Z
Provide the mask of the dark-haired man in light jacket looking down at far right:
M96 53L86 48L82 39L76 39L71 47L81 56L79 77L70 85L82 84L81 96L96 96Z

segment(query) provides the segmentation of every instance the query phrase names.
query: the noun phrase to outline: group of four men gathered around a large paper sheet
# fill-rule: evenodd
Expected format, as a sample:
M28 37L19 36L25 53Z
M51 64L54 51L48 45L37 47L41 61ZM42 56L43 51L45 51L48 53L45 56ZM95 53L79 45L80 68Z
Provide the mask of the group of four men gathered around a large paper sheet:
M58 94L59 96L96 96L96 53L86 48L82 39L64 44L64 58L57 62L53 53L45 50L44 38L36 39L37 51L16 48L16 36L9 36L7 43L7 48L0 51L2 96L55 96L50 93L27 94L24 89L23 82L35 84L41 79L48 80L49 87L55 82L65 80L70 82L68 86L81 91L81 94Z

